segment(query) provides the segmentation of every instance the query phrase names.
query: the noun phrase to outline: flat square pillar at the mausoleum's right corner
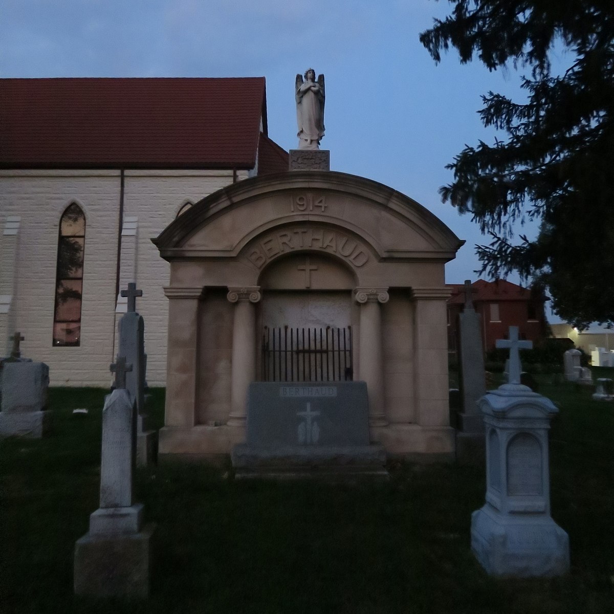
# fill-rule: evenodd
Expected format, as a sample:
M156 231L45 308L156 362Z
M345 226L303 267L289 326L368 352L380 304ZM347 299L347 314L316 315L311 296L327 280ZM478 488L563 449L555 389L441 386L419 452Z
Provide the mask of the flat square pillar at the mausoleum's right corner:
M412 288L416 422L449 427L446 287Z

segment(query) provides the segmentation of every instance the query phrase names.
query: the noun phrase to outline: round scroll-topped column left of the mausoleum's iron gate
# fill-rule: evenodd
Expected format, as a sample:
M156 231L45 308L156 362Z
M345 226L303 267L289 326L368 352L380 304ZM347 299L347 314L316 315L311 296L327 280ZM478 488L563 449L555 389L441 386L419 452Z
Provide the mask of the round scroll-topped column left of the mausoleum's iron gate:
M245 426L247 387L256 377L255 303L262 298L259 290L258 286L228 288L227 298L235 303L228 426Z

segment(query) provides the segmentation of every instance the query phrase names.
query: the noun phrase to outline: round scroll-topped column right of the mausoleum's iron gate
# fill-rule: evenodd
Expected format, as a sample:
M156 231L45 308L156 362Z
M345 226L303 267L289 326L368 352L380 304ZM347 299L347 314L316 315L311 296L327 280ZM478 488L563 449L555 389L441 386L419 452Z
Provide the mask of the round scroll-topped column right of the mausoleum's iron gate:
M370 426L386 426L384 361L380 303L387 303L387 288L356 288L360 303L359 379L367 382Z

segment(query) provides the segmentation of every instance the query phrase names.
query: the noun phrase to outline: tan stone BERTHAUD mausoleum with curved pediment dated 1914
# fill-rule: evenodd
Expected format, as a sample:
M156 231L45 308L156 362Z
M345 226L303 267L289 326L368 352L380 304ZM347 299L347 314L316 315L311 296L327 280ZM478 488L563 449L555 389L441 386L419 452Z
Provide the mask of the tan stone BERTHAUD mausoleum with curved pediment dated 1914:
M170 263L160 454L230 453L254 381L348 380L387 453L453 453L444 265L463 242L416 201L290 170L222 188L153 242Z

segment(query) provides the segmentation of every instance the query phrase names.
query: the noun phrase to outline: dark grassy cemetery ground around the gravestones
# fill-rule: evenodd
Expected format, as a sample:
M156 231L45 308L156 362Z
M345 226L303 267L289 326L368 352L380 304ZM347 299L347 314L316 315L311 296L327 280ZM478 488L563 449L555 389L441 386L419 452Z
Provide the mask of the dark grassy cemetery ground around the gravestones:
M594 370L594 378L611 376ZM614 371L614 370L612 370ZM470 553L481 467L391 462L386 483L236 481L230 465L140 468L157 524L148 600L72 593L74 543L98 507L102 389L50 389L52 434L0 443L0 607L36 613L603 613L614 610L614 403L538 376L559 406L552 516L571 573L488 577ZM154 426L163 389L152 391ZM88 414L72 414L88 408Z

